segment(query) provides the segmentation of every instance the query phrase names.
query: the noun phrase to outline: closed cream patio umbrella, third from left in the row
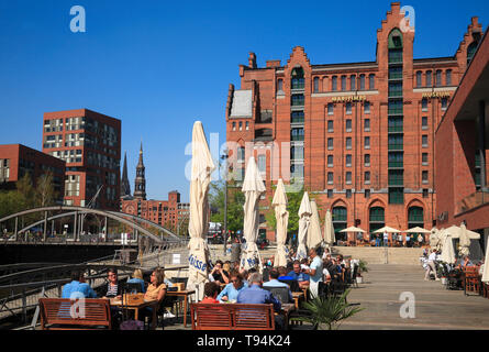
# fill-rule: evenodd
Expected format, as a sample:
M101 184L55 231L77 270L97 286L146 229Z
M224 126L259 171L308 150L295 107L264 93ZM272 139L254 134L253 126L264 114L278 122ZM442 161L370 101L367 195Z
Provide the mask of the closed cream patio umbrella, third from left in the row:
M277 254L275 255L274 266L287 266L286 241L289 212L287 211L286 188L281 178L278 179L271 207L275 208L275 218L277 219Z

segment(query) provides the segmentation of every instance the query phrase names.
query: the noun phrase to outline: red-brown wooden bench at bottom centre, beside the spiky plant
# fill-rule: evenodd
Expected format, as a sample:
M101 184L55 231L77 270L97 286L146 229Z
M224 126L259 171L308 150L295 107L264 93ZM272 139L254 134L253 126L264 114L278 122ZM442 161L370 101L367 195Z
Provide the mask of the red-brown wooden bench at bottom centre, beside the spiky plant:
M192 330L275 330L274 305L191 304Z

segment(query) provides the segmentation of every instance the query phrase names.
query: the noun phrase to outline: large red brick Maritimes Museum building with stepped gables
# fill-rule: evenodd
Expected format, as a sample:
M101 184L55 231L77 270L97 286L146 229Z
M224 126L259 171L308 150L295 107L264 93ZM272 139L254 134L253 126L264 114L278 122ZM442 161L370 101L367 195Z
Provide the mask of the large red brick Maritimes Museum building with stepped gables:
M248 65L240 65L241 89L230 85L227 96L233 173L243 176L255 156L266 179L264 212L281 177L303 184L322 219L331 209L337 231L431 229L434 132L480 32L473 18L453 56L414 58L414 32L396 2L377 30L373 62L316 65L296 46L284 65L257 67L251 53Z

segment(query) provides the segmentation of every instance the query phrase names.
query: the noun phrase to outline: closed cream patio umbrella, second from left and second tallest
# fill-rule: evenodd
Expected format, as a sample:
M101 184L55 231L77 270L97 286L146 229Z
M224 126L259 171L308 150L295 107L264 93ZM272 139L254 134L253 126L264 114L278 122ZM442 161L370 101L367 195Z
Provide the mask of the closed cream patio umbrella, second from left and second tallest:
M241 266L245 270L258 267L262 272L262 260L259 257L256 240L258 239L259 226L259 197L266 191L265 185L256 166L255 158L252 156L246 166L245 179L241 189L245 194L244 204L244 223L243 235L246 240L243 255L241 257Z

